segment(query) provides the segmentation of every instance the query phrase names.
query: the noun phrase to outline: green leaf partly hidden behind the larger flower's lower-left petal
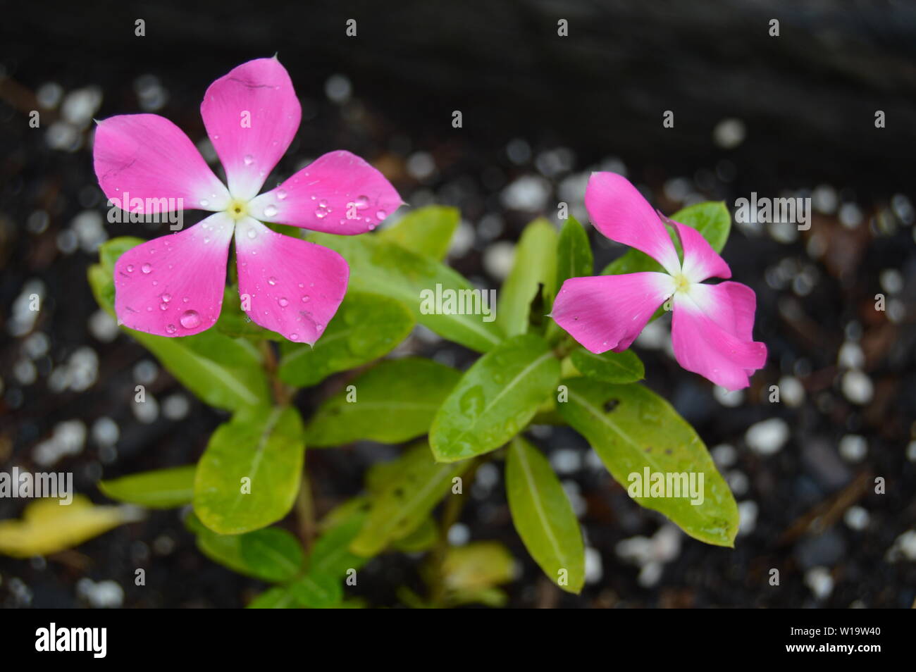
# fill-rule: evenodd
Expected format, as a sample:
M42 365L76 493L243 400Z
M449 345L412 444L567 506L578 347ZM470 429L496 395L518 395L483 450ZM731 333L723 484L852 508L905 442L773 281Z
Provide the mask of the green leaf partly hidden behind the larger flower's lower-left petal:
M114 238L100 250L103 264L90 266L88 277L99 305L114 316L114 262L139 238ZM270 402L267 377L256 350L218 331L167 338L122 327L152 352L159 363L205 403L226 410L264 406Z

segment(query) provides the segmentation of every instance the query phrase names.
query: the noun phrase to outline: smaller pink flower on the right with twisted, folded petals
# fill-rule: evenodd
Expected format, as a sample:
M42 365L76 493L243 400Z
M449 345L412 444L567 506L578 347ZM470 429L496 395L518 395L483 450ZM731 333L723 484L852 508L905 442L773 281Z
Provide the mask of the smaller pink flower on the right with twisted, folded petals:
M701 284L732 272L700 233L670 221L681 239L682 264L659 214L626 178L594 173L585 208L598 231L651 256L667 273L570 278L553 304L557 324L591 352L623 352L673 297L671 341L678 363L729 390L747 387L748 376L767 360L767 346L751 336L754 291L736 282Z

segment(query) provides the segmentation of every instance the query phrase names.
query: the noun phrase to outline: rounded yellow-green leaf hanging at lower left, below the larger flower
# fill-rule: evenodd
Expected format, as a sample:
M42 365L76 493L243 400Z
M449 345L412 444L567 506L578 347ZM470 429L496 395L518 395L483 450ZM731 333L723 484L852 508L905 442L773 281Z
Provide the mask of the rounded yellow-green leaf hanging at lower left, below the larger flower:
M216 428L197 465L194 511L224 535L278 521L299 492L304 452L295 408L236 414Z

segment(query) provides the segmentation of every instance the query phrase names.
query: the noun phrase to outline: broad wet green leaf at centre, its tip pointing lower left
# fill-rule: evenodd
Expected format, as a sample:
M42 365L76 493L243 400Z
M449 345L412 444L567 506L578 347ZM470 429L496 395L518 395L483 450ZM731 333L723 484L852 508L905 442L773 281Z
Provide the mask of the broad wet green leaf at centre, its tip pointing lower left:
M432 421L437 461L464 460L514 437L556 389L560 362L534 334L514 336L463 375Z

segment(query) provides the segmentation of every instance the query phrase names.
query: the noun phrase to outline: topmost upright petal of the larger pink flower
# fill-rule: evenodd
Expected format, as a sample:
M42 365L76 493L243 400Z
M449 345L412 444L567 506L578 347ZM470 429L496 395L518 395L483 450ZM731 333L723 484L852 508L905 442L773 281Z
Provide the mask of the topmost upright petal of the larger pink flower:
M277 59L256 59L214 81L201 103L203 125L236 199L252 199L299 129L302 112Z

